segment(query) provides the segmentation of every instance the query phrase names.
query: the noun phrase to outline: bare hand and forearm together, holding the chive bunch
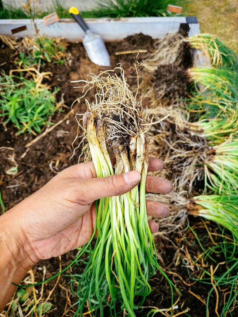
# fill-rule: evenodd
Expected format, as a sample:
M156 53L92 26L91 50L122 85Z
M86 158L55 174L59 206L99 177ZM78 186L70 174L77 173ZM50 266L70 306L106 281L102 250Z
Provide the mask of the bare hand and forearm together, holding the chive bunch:
M160 159L149 158L148 171L162 169ZM40 190L0 216L0 312L28 270L42 259L60 256L87 243L96 223L95 200L121 195L140 182L140 173L96 178L92 162L71 166L57 174ZM172 183L147 175L146 191L169 193ZM146 202L147 213L165 217L169 207ZM158 230L149 222L152 232ZM3 284L5 287L3 287Z

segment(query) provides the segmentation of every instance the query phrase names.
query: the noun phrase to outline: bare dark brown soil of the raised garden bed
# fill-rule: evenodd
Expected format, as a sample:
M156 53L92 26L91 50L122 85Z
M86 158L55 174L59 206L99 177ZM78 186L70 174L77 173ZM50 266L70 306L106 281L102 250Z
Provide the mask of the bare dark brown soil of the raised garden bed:
M128 79L132 91L136 91L137 85L136 71L133 66L137 54L115 55L115 53L135 49L147 49L148 52L150 52L153 49L153 42L151 37L137 34L135 36L128 36L120 42L108 42L106 44L111 56L110 68L113 69L118 63L122 64L122 68L125 70L125 77ZM71 57L65 65L44 65L40 69L41 72L50 71L52 73L51 79L47 83L51 87L56 86L60 88L57 93L57 101L63 100L63 103L66 106L63 107L63 112L55 113L51 118L52 123L61 120L70 110L71 104L80 97L79 89L74 88L74 85L77 86L77 84L70 83L70 81L86 79L86 75L89 73L99 74L101 70L107 69L93 64L88 59L81 43L70 43L68 51L71 53ZM146 53L140 53L139 61L140 58L144 58L145 56ZM0 67L6 74L9 73L10 69L16 67L14 64L15 58L16 55L14 51L1 46ZM160 68L160 72L157 71L158 80L166 81L166 77L174 80L173 70L173 66L169 68L164 67L163 69ZM140 70L140 76L143 76L142 70ZM181 91L184 91L184 87L188 85L187 78L185 78L182 73L176 73L176 76L176 80L181 81ZM178 95L180 95L181 91L178 92ZM170 92L168 91L168 96L169 95ZM93 101L93 92L89 92L86 98L89 102ZM146 104L144 106L146 106ZM82 101L81 103L76 102L73 108L74 113L83 113L86 106L84 101ZM3 120L0 121L0 123L3 123ZM78 149L76 155L69 160L72 155L71 144L76 136L76 131L76 119L74 115L71 115L68 120L64 121L45 137L26 149L25 145L35 138L32 134L24 133L16 136L15 133L17 131L15 128L10 125L5 127L4 124L0 124L0 190L6 210L9 210L25 197L28 197L33 192L37 191L54 177L58 171L62 171L66 167L78 162L80 149ZM57 167L55 167L56 164ZM16 165L18 173L14 176L7 175L6 171ZM192 218L190 221L190 225L195 228L202 244L208 244L210 241L209 236L204 229L204 226L201 225L200 220ZM189 275L192 275L191 277L198 276L199 272L196 271L196 266L193 268L189 267L188 263L191 261L188 257L192 256L195 259L202 252L201 248L196 243L193 234L190 232L190 236L188 233L186 236L183 236L183 232L181 232L179 235L171 234L163 239L156 237L155 243L159 251L162 267L166 268L169 277L182 292L182 297L177 303L178 308L174 309L173 313L176 314L189 309L187 310L187 313L182 313L180 316L205 316L206 307L194 294L206 301L206 295L209 289L206 288L205 284L194 284L193 279L189 277ZM76 251L72 251L62 256L62 268L69 264L70 260L73 260L75 254ZM204 263L204 267L209 267L209 265L211 265L211 263L207 260L207 262ZM39 262L33 269L35 281L40 281L42 279L42 270L39 270L39 268L42 268L43 266L46 267L46 278L48 278L58 272L59 260L58 258L52 258L48 261ZM72 270L74 272L83 272L83 268L74 266L69 269L68 273L70 274ZM67 301L68 303L71 301L71 304L76 301L76 298L70 294L69 286L67 284L68 281L69 277L60 277L59 284L49 300L53 304L52 311L45 316L60 317L65 311ZM50 281L44 286L45 298L55 285L55 282L55 280ZM167 282L161 277L161 274L157 273L151 280L150 285L152 287L152 292L146 298L144 306L169 308L171 304L171 293ZM213 296L215 295L213 294ZM177 299L178 294L175 292L174 302ZM69 307L69 305L67 307ZM215 298L211 305L209 317L216 316L214 307ZM143 311L136 313L136 316L146 316L150 309L151 308L145 308ZM72 311L69 311L66 314L66 316L72 315ZM160 314L157 315L159 316ZM89 316L91 316L91 314L89 314ZM97 314L97 316L99 315ZM105 316L109 316L107 308L105 308ZM123 313L119 314L119 316L123 316ZM238 314L234 314L233 316L238 316Z

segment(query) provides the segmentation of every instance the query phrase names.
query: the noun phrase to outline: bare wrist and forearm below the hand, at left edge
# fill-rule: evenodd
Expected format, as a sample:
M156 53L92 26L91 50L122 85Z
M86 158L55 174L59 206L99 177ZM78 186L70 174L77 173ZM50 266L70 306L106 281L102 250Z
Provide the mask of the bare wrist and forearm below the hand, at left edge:
M26 252L24 236L16 219L17 210L9 210L0 216L0 313L6 306L16 287L35 263Z

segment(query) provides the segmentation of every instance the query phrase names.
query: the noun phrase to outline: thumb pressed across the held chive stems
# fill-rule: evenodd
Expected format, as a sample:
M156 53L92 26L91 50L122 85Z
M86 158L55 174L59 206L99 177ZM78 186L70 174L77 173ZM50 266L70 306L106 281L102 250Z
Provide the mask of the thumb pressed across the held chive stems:
M141 174L130 171L120 175L85 179L87 200L90 202L103 197L118 196L127 193L139 184Z

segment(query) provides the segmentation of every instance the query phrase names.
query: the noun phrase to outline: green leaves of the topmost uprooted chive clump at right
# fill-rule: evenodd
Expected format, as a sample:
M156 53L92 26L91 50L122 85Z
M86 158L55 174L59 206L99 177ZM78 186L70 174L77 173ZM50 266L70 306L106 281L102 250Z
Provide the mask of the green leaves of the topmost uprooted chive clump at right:
M212 66L233 66L238 64L238 56L229 49L216 36L210 34L197 34L185 39L194 49L199 49L210 60Z

